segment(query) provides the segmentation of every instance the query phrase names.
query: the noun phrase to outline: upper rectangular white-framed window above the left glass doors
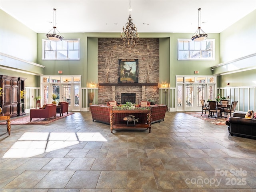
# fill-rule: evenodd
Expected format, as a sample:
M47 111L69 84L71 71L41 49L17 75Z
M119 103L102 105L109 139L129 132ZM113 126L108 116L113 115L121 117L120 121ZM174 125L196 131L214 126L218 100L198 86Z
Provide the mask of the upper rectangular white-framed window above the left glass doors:
M42 40L42 60L79 60L80 40Z

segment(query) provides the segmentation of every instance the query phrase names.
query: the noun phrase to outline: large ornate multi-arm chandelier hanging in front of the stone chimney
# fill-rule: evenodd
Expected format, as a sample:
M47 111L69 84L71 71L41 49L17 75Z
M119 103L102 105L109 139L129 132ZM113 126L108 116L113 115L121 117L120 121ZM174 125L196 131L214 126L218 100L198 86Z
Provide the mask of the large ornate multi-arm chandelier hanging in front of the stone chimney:
M130 9L129 9L130 15L128 18L128 22L125 25L125 28L123 27L124 36L122 36L121 32L121 39L124 42L124 46L127 48L130 48L130 50L136 46L136 43L139 40L139 34L137 33L137 28L132 22L131 18L131 0L130 0Z

